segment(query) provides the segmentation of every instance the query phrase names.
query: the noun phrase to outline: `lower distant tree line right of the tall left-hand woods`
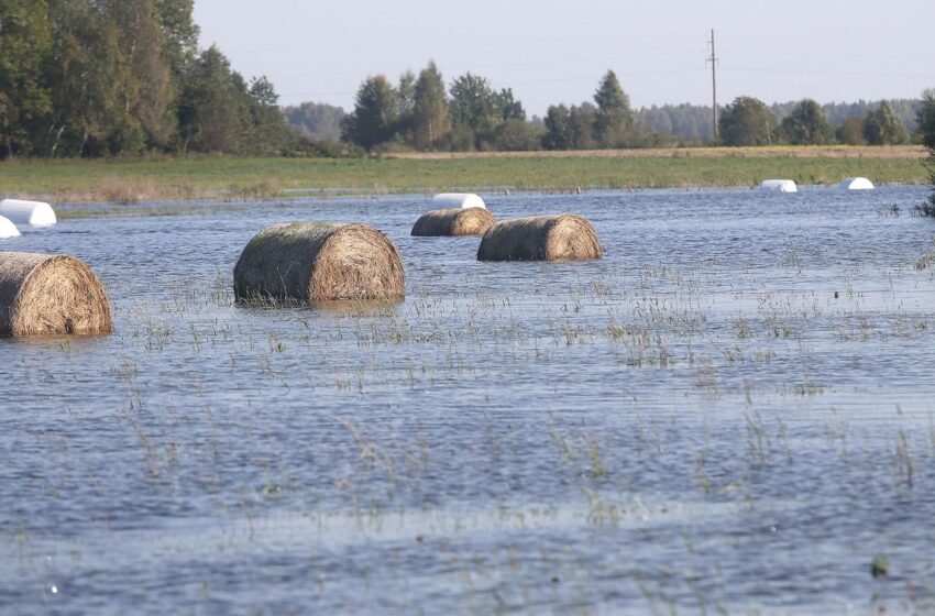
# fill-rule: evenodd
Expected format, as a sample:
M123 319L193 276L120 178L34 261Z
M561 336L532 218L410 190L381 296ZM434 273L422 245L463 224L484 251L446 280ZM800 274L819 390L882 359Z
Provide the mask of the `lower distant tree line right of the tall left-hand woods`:
M719 108L679 105L634 110L613 70L593 100L553 105L528 119L509 88L466 73L446 85L435 63L397 84L385 76L361 84L354 108L305 103L285 110L310 136L336 135L367 151L529 151L671 145L901 144L912 140L921 101L820 106L811 99L768 107L738 97ZM326 133L327 131L327 133Z

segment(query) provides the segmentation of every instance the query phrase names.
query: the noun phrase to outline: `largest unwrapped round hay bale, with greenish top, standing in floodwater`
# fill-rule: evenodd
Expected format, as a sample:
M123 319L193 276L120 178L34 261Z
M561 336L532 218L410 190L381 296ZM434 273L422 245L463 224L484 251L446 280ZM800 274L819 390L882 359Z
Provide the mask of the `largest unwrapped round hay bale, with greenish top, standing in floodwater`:
M234 267L239 301L308 304L405 295L396 246L364 224L274 224L250 241Z

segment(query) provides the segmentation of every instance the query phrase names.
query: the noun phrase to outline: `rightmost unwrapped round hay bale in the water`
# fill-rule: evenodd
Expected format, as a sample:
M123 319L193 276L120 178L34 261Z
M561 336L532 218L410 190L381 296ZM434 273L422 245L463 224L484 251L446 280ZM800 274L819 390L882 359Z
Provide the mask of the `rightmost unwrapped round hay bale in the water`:
M573 213L497 222L477 250L480 261L585 261L602 255L594 227Z

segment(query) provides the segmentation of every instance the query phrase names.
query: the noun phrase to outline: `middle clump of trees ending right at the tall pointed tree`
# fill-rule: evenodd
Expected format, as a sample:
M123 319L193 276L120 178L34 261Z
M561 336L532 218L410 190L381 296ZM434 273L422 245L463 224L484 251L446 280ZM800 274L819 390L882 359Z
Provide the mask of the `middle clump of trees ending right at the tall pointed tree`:
M306 112L310 109L306 109ZM286 110L297 117L301 108ZM530 151L628 147L639 140L629 97L613 70L598 84L594 103L554 106L529 120L510 88L494 88L466 73L446 86L433 62L392 84L369 77L341 119L341 139L367 151Z

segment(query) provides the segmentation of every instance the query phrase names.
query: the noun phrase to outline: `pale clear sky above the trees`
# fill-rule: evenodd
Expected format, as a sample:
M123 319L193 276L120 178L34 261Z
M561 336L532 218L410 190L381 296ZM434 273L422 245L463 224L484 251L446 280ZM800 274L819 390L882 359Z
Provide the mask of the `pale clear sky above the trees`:
M530 114L591 100L606 70L635 107L916 98L935 87L935 0L196 0L201 45L283 105L353 108L363 79L433 59L510 87Z

